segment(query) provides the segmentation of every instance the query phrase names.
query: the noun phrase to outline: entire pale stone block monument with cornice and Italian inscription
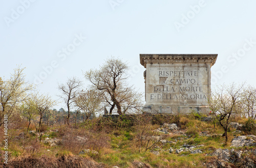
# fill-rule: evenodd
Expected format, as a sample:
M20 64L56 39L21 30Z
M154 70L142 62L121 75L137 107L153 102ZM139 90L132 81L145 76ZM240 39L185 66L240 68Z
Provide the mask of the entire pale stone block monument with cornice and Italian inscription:
M210 68L218 54L140 54L144 113L208 114Z

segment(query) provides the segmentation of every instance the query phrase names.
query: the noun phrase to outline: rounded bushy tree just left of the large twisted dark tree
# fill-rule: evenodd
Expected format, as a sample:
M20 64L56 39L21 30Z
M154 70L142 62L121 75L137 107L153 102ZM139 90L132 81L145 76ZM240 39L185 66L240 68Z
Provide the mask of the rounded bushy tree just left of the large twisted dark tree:
M86 116L86 120L103 109L102 96L99 91L91 89L82 91L75 99L75 104Z

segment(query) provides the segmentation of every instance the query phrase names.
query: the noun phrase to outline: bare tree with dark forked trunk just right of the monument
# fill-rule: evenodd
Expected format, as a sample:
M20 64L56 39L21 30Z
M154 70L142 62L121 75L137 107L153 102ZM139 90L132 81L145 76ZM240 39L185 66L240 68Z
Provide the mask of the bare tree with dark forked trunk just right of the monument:
M230 123L230 116L240 114L239 102L241 101L243 87L244 84L240 86L236 86L234 83L230 86L223 85L222 87L218 87L215 92L212 92L211 97L208 99L210 109L224 129L222 136L226 137L226 142L228 139L227 130Z

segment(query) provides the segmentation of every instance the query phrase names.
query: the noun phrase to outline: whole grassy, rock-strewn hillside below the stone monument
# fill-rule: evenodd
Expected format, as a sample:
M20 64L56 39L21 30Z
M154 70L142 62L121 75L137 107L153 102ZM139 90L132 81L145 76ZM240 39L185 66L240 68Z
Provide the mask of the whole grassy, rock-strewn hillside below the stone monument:
M31 126L27 132L27 123L12 124L8 130L8 165L4 163L4 143L0 164L9 167L255 165L254 136L245 136L247 146L232 146L236 137L255 135L253 123L250 125L241 117L232 117L231 121L243 125L229 127L227 143L218 122L198 114L119 116L88 120L77 127L45 126L41 142L35 127ZM1 142L4 142L3 130Z

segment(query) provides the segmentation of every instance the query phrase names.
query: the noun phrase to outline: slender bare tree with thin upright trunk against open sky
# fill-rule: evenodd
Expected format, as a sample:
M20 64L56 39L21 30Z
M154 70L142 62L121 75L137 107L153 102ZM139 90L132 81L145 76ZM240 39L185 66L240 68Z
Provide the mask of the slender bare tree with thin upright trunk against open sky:
M70 110L72 108L72 104L74 103L77 94L80 92L81 86L82 82L75 77L69 78L65 84L58 85L58 89L61 92L61 95L59 95L59 97L65 101L68 107L68 117L66 119L68 125L70 118Z

